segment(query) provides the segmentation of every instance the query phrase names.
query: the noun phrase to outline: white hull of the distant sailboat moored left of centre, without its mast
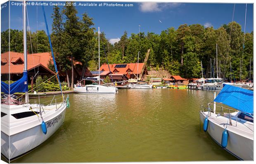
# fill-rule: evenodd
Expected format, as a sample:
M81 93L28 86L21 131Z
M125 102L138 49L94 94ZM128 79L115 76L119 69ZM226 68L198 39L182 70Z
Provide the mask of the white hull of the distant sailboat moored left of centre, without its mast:
M115 94L117 88L103 85L85 85L83 87L74 87L74 92L80 94Z

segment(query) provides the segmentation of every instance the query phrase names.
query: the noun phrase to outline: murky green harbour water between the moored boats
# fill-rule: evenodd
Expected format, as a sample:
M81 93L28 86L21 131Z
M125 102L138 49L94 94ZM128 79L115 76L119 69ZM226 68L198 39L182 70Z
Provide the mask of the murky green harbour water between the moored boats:
M212 99L211 91L178 89L71 94L64 125L14 162L237 160L199 131L200 105Z

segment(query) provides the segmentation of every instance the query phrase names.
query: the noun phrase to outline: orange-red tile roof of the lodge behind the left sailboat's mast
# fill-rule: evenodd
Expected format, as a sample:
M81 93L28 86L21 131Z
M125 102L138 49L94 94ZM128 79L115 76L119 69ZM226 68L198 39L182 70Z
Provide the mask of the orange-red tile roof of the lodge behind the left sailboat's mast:
M17 52L12 52L12 51L7 51L5 53L1 54L1 74L7 74L9 73L17 73L17 74L22 74L23 69L24 69L24 64L18 64L14 65L12 63L17 62L18 60L22 60L24 62L24 53L17 53ZM28 54L27 55L27 67L28 71L33 69L34 67L44 67L47 69L49 72L52 72L48 67L49 60L52 60L52 55L51 53L33 53L33 54ZM7 63L10 62L10 67L8 66ZM9 70L10 68L10 70ZM55 73L55 72L52 72Z

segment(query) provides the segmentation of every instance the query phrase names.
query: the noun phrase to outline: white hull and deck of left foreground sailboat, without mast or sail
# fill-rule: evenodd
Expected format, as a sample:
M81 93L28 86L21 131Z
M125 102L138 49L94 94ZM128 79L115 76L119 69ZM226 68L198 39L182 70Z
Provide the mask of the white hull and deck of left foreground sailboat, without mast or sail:
M10 161L46 141L63 124L66 102L1 105L1 154ZM2 116L3 115L3 116ZM42 130L45 122L46 132Z

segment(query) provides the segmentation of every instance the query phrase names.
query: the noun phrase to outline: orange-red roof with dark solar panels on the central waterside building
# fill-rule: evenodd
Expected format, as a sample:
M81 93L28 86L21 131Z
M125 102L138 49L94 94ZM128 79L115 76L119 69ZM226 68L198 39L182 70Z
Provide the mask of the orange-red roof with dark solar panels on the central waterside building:
M116 65L126 65L126 67L115 68ZM109 68L110 68L110 71L113 72L113 74L114 74L115 71L117 71L119 74L126 74L127 75L128 70L130 69L131 74L137 74L137 72L138 72L138 74L140 74L141 71L142 71L143 65L144 65L144 63L139 63L139 64L137 64L137 63L128 63L128 64L112 64L112 65L109 65L109 67L108 67L107 64L103 64L103 65L101 65L100 70L101 71L103 71L103 70L104 71L109 71ZM138 66L138 69L137 69L137 66Z

